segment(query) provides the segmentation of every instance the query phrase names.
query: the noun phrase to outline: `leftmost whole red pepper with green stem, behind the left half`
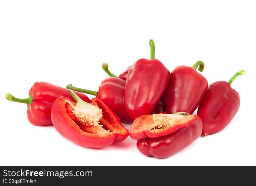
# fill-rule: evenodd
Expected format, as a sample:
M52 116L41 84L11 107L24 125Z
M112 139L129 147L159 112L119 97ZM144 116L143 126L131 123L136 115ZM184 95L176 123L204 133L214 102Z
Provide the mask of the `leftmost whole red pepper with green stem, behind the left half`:
M82 100L90 102L90 99L79 92L76 92ZM60 96L65 96L74 101L68 92L68 89L47 83L37 81L29 90L29 98L19 99L12 94L7 93L5 98L9 101L27 104L27 116L30 123L37 126L50 125L51 105Z

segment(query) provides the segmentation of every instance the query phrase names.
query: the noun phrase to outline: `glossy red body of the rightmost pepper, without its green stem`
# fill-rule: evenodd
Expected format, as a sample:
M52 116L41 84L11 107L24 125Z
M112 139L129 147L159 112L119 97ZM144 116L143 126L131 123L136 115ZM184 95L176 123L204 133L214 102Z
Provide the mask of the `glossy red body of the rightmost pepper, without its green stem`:
M197 111L203 122L202 136L224 129L236 115L239 106L240 96L228 82L210 84Z

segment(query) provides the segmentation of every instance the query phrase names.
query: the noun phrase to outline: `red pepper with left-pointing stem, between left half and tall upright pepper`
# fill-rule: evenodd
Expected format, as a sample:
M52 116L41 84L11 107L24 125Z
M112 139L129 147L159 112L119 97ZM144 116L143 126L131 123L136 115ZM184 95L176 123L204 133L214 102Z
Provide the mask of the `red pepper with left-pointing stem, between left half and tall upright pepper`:
M123 104L123 92L125 89L125 80L117 77L108 77L102 81L98 92L87 89L80 89L68 84L67 89L72 89L78 92L88 93L97 96L106 103L120 118L122 122L131 124L133 120L127 114Z

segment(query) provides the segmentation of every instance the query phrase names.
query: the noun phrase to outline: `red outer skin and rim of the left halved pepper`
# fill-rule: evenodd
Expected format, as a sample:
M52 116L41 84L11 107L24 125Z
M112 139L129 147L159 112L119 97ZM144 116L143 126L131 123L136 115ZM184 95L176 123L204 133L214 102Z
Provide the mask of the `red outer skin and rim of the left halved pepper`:
M66 103L76 104L67 97L59 97L52 104L51 120L55 129L65 138L83 147L103 148L111 145L114 141L122 141L128 137L128 131L122 126L118 117L100 99L93 98L91 103L102 109L102 118L111 120L113 126L121 128L119 131L108 132L104 135L97 135L83 132L80 127L67 114ZM102 119L101 119L102 120ZM100 121L101 121L100 120Z

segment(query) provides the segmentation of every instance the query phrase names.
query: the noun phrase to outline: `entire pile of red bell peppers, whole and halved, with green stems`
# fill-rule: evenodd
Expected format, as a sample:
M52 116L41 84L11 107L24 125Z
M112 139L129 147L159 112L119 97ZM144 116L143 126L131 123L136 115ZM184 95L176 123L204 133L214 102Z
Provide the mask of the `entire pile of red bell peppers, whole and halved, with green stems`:
M156 158L167 158L200 136L224 129L240 106L231 84L246 72L240 70L228 82L208 86L200 73L205 68L202 61L170 72L155 59L152 39L149 45L150 59L137 60L119 76L109 71L107 63L102 64L110 77L102 80L98 91L35 82L28 98L10 93L5 97L27 105L31 124L52 124L78 145L103 148L130 136L142 154ZM90 100L83 93L95 97ZM131 124L129 131L122 122Z

